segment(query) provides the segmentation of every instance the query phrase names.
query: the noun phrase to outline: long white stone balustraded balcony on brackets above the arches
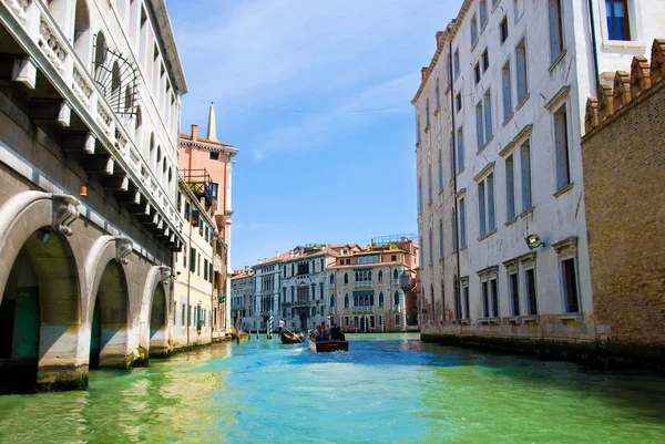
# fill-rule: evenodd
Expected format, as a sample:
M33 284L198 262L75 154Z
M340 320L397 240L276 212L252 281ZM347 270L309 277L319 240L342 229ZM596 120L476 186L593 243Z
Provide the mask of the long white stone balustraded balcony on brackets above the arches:
M133 142L140 95L135 63L102 41L93 78L91 63L82 62L72 44L45 1L0 2L0 79L27 97L21 111L54 137L89 180L114 194L161 244L180 251L183 223L162 186L166 179L157 177ZM120 74L106 79L104 70Z

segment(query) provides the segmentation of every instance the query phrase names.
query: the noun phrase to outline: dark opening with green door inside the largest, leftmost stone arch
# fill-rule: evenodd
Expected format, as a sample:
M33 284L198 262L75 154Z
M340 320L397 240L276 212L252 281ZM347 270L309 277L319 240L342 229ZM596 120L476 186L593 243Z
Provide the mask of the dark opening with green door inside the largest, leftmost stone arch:
M82 389L78 268L64 236L32 233L0 303L0 393Z

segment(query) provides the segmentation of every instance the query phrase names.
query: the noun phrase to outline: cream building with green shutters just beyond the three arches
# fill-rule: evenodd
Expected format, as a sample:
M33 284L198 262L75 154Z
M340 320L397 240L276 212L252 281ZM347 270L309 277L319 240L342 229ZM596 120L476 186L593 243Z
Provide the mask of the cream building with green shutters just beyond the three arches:
M175 254L175 282L170 342L174 348L208 343L217 318L214 288L215 246L224 241L215 229L211 206L200 189L178 178L176 209L182 218L184 245Z

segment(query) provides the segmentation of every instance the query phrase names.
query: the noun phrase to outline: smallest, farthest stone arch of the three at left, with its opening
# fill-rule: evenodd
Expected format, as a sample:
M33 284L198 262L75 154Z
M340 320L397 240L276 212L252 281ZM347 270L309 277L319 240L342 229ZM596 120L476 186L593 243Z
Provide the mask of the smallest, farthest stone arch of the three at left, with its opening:
M168 353L167 316L168 301L164 281L171 276L171 268L154 266L147 272L141 299L141 331L139 344L150 351L150 355Z

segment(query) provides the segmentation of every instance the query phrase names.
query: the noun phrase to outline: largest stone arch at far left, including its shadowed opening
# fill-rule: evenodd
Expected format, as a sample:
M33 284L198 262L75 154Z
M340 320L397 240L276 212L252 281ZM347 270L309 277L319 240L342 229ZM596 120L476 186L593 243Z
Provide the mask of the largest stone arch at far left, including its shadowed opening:
M65 237L74 205L72 196L23 192L0 208L0 381L12 391L88 385L79 248Z

